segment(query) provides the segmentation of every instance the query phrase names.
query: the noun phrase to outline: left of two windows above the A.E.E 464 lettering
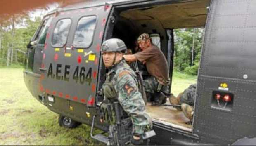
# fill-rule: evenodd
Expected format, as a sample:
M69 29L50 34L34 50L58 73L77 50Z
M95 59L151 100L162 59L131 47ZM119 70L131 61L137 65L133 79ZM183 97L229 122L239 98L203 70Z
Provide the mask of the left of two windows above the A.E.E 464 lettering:
M52 38L53 47L63 47L66 44L70 25L71 19L61 19L57 22Z

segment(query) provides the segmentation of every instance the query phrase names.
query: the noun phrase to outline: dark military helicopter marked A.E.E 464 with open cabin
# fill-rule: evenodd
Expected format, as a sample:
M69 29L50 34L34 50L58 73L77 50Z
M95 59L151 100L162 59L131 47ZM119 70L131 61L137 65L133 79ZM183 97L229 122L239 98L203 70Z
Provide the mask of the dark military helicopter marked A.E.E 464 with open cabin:
M133 48L138 35L149 33L172 78L173 29L205 27L192 125L180 113L147 106L156 133L150 144L256 144L255 6L256 0L96 0L59 7L29 42L26 86L59 114L60 125L91 125L92 138L108 144L108 137L92 135L93 127L109 131L97 116L106 75L102 41L120 38Z

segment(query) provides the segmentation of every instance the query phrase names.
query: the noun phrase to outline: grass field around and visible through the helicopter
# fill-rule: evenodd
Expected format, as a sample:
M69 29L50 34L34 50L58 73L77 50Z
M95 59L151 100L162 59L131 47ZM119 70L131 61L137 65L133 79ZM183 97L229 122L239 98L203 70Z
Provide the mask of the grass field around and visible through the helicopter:
M175 95L196 80L178 72L173 76ZM21 68L0 68L0 93L0 145L99 144L90 138L90 126L59 127L58 115L36 101L26 88Z

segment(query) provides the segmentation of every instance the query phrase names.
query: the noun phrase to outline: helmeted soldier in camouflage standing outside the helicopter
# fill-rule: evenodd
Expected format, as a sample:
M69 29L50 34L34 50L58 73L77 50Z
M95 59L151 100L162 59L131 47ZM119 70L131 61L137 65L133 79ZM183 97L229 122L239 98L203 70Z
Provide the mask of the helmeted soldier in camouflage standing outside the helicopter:
M142 144L142 134L152 126L152 119L145 111L142 94L138 91L136 74L123 59L127 47L117 38L106 40L101 53L105 67L109 69L103 85L104 96L109 101L119 101L133 123L132 143Z

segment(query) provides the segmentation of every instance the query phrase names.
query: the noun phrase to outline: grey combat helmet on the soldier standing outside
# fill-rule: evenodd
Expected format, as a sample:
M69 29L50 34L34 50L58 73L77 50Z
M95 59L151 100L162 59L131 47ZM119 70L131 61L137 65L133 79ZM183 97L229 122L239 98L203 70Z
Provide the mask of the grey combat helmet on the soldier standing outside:
M101 46L101 52L122 52L127 50L126 44L119 38L105 40Z

